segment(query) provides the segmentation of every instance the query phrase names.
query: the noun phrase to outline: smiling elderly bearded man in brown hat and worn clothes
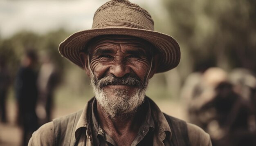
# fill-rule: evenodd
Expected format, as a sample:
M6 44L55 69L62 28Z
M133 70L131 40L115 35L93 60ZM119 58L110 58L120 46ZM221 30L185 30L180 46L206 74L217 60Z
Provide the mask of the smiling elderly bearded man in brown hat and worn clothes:
M85 69L95 97L83 111L43 125L30 145L211 146L202 129L162 113L145 96L155 73L177 66L180 48L154 31L150 14L137 4L106 2L92 29L74 33L59 51Z

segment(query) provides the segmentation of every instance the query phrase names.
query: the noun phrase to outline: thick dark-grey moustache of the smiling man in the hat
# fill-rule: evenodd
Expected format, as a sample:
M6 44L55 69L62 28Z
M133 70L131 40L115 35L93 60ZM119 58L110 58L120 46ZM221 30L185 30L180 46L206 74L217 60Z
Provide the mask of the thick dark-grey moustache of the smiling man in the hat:
M107 85L128 85L128 86L135 86L140 88L144 87L144 84L139 79L139 77L135 77L131 75L126 75L120 78L115 77L114 75L107 75L97 81L94 80L94 83L96 83L96 85L99 88L103 88L104 86L107 86Z

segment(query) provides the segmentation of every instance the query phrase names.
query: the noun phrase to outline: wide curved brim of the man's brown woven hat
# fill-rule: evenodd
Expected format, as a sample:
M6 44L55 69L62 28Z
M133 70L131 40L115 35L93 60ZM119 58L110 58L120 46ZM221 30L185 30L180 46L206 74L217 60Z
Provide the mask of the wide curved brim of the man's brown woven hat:
M159 65L156 73L169 71L180 62L180 46L174 38L157 31L135 28L104 28L79 31L61 42L59 52L62 56L83 68L79 53L88 41L99 35L130 35L147 40L159 51Z

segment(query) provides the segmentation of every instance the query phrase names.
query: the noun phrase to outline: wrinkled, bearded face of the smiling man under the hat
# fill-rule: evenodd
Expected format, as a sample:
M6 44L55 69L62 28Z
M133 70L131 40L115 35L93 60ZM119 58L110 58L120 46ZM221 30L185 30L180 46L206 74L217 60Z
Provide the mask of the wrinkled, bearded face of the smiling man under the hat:
M152 53L150 44L130 37L104 37L90 45L92 86L110 117L131 113L144 101Z

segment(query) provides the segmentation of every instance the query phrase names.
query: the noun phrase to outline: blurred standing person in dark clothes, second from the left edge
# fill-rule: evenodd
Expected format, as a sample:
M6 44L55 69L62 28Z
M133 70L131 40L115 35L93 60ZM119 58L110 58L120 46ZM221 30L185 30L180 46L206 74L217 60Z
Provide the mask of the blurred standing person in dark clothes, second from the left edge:
M21 61L15 83L18 103L18 124L22 128L22 146L27 146L32 133L38 128L36 116L37 73L35 71L37 55L34 50L27 50Z

